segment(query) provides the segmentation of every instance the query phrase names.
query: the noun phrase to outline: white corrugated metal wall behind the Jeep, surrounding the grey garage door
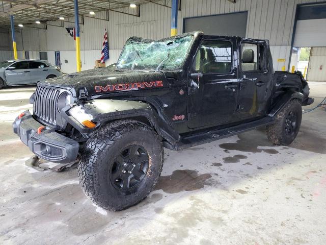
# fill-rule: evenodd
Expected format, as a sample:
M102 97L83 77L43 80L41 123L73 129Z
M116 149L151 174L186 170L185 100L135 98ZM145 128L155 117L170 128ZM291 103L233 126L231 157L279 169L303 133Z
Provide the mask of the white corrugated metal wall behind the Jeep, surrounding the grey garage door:
M182 0L181 11L178 13L178 33L182 33L183 18L186 17L248 11L246 36L269 39L275 69L280 70L283 65L287 69L296 5L322 1L237 0L236 4L233 4L227 0ZM171 0L162 1L161 3L163 4L164 2L167 5L171 5ZM130 8L126 8L126 10L135 11ZM118 58L117 54L119 54L124 42L130 36L159 39L170 35L170 8L148 3L141 5L140 13L141 17L135 17L110 11L108 12L109 21L84 17L84 25L80 25L82 57L83 50L85 50L82 69L92 68L94 60L99 59L105 28L108 30L110 54L112 54L107 64L116 61ZM105 19L106 13L96 13L96 17ZM68 19L68 21L73 22L73 17ZM62 26L61 21L51 21L48 23L46 31L33 30L29 35L25 34L24 29L25 51L47 50L49 60L54 59L54 51L61 51L62 54L66 53L69 58L69 65L66 65L67 70L64 71L74 71L74 55L70 55L70 53L74 51L75 44L73 38L68 35L66 27L73 27L73 23L64 22L64 26ZM19 44L21 40L19 40L18 36L19 34L17 35L16 33L18 50L21 50L21 44ZM41 45L40 48L38 48L38 45ZM285 62L277 62L277 59L285 59Z

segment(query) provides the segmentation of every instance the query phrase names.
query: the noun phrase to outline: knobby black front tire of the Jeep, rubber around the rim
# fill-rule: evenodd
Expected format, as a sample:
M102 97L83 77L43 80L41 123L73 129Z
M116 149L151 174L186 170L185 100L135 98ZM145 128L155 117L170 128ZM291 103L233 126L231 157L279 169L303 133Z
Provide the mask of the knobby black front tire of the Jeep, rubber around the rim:
M139 144L146 149L149 167L135 188L118 190L110 181L110 169L125 145ZM120 151L119 151L120 150ZM163 166L160 137L148 125L135 120L118 120L104 125L87 140L77 165L80 186L97 206L118 211L141 202L153 190Z

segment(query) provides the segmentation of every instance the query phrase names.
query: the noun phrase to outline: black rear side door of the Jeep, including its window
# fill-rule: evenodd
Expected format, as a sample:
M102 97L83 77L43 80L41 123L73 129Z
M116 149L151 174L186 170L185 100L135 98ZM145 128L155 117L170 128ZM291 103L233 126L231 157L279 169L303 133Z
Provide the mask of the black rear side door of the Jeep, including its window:
M264 116L273 88L273 68L267 65L268 44L264 40L239 39L240 69L238 117Z

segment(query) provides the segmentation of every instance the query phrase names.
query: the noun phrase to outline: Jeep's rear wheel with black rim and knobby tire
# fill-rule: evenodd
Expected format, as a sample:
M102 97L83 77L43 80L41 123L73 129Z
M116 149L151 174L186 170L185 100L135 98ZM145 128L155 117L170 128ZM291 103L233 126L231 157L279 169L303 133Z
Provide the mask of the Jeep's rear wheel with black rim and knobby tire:
M299 132L302 107L299 100L291 100L276 116L275 124L268 125L268 140L277 145L289 145Z

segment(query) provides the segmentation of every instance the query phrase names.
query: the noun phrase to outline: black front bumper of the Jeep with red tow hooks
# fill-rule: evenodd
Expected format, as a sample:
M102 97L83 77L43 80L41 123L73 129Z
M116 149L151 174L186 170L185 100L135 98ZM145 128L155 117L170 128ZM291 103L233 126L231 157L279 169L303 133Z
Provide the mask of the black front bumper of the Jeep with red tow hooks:
M24 111L21 118L17 117L13 122L14 133L20 140L38 157L58 163L68 163L76 160L79 151L79 143L53 128L44 127L33 118L30 111ZM21 115L22 115L21 114Z

